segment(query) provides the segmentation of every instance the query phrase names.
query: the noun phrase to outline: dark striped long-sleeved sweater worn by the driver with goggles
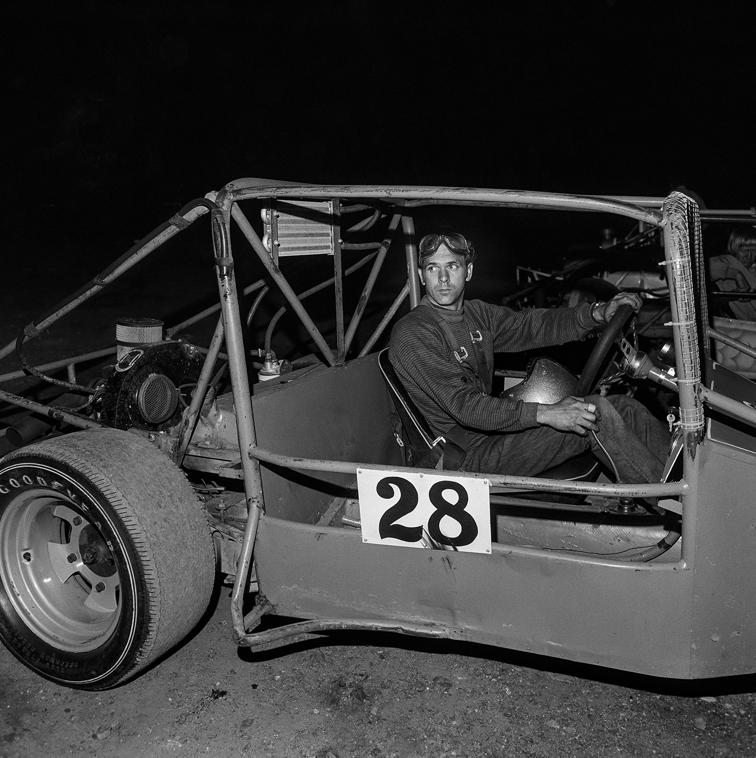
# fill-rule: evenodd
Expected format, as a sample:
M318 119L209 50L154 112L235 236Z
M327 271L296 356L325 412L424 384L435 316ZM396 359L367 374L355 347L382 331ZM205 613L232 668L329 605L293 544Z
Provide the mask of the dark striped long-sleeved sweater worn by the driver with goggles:
M450 346L441 325L429 309L446 321L455 337ZM467 321L467 324L465 323ZM455 424L483 433L513 432L536 427L535 402L512 401L483 395L470 381L454 352L476 365L470 329L480 330L483 350L493 371L494 352L519 352L578 340L595 324L590 306L513 311L482 300L466 300L464 309L449 311L423 297L420 305L401 318L389 342L389 359L415 405L431 429L445 434ZM477 335L476 335L477 336ZM476 443L471 438L470 444Z

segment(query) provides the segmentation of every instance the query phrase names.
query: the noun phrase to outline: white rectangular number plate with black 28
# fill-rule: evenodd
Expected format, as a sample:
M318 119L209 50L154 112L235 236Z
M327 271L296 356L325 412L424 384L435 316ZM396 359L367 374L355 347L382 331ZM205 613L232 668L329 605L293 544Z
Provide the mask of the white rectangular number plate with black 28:
M491 552L489 481L358 468L362 541Z

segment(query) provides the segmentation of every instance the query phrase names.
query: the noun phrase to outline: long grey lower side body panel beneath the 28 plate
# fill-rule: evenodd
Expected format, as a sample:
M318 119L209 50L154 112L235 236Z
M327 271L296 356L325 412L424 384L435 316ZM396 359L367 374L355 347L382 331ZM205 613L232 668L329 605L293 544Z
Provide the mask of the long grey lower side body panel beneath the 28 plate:
M690 675L692 572L495 545L492 555L363 543L264 515L258 581L275 612L395 619L655 676Z

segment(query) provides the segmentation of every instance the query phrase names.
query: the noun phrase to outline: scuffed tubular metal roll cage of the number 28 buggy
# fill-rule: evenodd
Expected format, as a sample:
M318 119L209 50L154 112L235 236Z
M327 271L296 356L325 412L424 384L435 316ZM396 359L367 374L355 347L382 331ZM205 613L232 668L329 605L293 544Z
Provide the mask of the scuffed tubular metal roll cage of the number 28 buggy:
M339 244L336 245L334 255L334 283L336 284L336 325L337 325L337 349L334 352L323 339L320 330L314 324L301 305L301 297L297 296L289 285L280 268L273 262L273 256L264 247L260 237L252 228L238 203L242 200L264 199L308 199L308 200L333 200L358 199L372 201L379 207L389 209L392 219L386 239L380 243L380 249L375 255L373 269L370 272L364 287L362 297L355 315L352 317L348 329L344 330L342 298L341 298L341 262ZM699 356L699 333L696 319L695 290L693 287L694 273L692 269L691 240L695 240L698 246L695 258L697 265L700 263L700 215L698 206L681 193L672 193L664 198L632 198L620 196L581 196L564 195L555 193L523 192L519 190L493 190L493 189L470 189L454 187L415 187L415 186L328 186L316 184L298 184L289 182L277 182L260 179L237 180L227 184L220 192L208 193L204 199L198 199L182 208L181 211L167 224L163 224L150 235L136 243L126 255L123 255L109 269L106 269L99 277L95 277L89 284L79 290L75 296L64 301L52 312L48 312L37 324L30 324L24 330L23 342L36 337L41 330L58 321L59 318L76 308L86 299L89 299L108 283L111 283L120 274L128 271L133 265L161 246L164 242L175 236L181 230L188 227L201 216L211 213L211 226L214 246L214 265L217 274L217 284L220 295L219 305L195 315L189 320L167 330L170 337L181 328L199 321L205 316L220 310L220 318L217 322L211 345L207 351L205 363L197 385L197 391L183 418L180 427L180 443L178 446L177 463L181 463L183 453L189 443L194 429L194 424L205 399L205 393L211 381L214 364L219 356L220 347L226 343L227 359L233 393L233 402L236 409L236 424L239 434L239 449L241 452L241 465L244 475L245 498L248 509L248 519L242 541L241 555L236 570L236 579L233 586L233 635L236 644L243 647L254 647L255 650L265 650L277 647L280 644L289 644L294 641L317 637L325 631L336 629L369 629L398 631L407 634L417 634L427 637L460 637L461 632L451 628L431 627L427 625L413 625L408 622L380 622L375 619L314 619L300 622L270 631L249 633L260 622L262 615L269 611L272 606L264 597L258 597L258 604L246 616L242 612L242 600L248 575L252 565L252 555L255 545L255 536L261 513L264 511L264 498L262 493L259 462L267 462L298 470L308 471L338 471L342 473L356 474L358 468L365 466L360 462L345 462L334 460L302 459L291 456L283 456L272 453L269 450L258 447L255 435L255 419L251 406L251 393L245 360L245 348L243 343L244 324L239 313L239 301L236 290L236 278L234 275L233 254L230 239L231 218L236 222L245 238L251 244L252 249L260 258L267 269L268 274L280 287L292 310L298 315L302 324L308 330L308 334L317 344L323 357L329 365L342 364L348 351L352 337L357 330L358 322L364 313L365 305L370 297L376 277L386 257L386 252L392 240L392 235L401 221L402 231L405 235L405 255L408 268L408 280L401 292L380 321L373 335L361 350L359 357L370 352L373 345L385 330L389 321L397 312L401 303L409 295L411 308L420 302L420 282L417 277L417 249L414 242L414 222L412 216L406 211L423 205L470 205L498 208L536 208L542 210L571 210L614 213L633 218L643 224L661 227L664 237L664 265L670 280L670 309L672 312L671 326L676 349L676 383L679 391L680 426L683 431L683 478L677 482L659 484L594 484L576 481L545 480L534 477L519 477L510 475L485 475L492 487L507 487L517 490L542 490L549 492L598 494L615 497L669 497L679 496L683 505L683 531L682 531L682 554L679 562L654 565L654 570L679 570L680 568L692 568L693 552L695 548L695 514L698 507L697 497L697 469L694 466L695 454L698 445L704 437L704 412L703 403L718 409L726 410L749 424L756 425L756 410L745 406L742 402L729 399L726 396L709 390L701 384L701 359ZM362 206L364 209L375 205ZM717 220L724 211L704 211L704 215L716 215ZM740 216L750 216L745 212L729 213L728 218L733 221L741 220ZM376 216L374 216L376 218ZM355 227L356 229L356 227ZM373 245L372 247L376 247ZM367 262L364 261L364 262ZM352 267L354 269L355 267ZM347 272L348 273L348 272ZM699 274L701 271L699 271ZM329 282L323 283L324 285ZM264 280L255 282L244 290L248 294L254 290L265 287ZM313 288L316 289L316 288ZM739 343L725 335L720 335L711 327L708 327L708 318L705 317L706 305L701 303L699 320L704 323L701 330L701 338L704 341L704 356L708 357L708 338L719 340L729 346L739 349L750 356L756 357L756 351L748 345ZM0 359L13 352L16 340L8 343L0 349ZM68 368L70 381L75 381L74 367L79 362L107 356L115 352L115 348L108 348L97 352L87 353L71 359L64 359L39 366L39 370L47 371L55 368ZM203 351L204 352L204 351ZM226 357L226 356L223 356ZM26 375L25 371L14 371L0 376L0 381L10 381ZM61 421L80 428L96 428L102 424L83 418L79 415L64 412L59 409L51 409L41 406L39 403L24 399L23 397L0 390L0 399L11 402L14 405L31 409L34 412L42 412ZM413 473L435 473L435 470L408 468L401 466L380 466L368 464L369 468L377 468L387 471L412 471ZM458 475L454 471L445 471L449 478ZM459 476L459 475L458 475ZM480 477L465 473L464 477ZM498 550L501 546L494 546ZM522 553L539 553L533 548L518 548L507 546L507 550L517 550ZM576 562L585 561L580 556L566 558ZM613 562L616 563L616 562ZM643 564L633 564L636 570L644 570Z

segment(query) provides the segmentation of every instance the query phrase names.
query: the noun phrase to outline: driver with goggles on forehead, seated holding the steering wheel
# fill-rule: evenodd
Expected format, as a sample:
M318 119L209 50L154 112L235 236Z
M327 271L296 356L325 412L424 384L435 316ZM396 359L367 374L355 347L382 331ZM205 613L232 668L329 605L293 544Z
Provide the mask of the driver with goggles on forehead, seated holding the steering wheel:
M418 272L426 294L389 342L389 360L433 433L465 450L461 470L534 476L590 448L620 481L660 481L670 434L636 400L591 395L544 405L491 395L494 352L578 340L620 305L638 311L640 297L513 311L464 299L474 261L461 234L424 236Z

